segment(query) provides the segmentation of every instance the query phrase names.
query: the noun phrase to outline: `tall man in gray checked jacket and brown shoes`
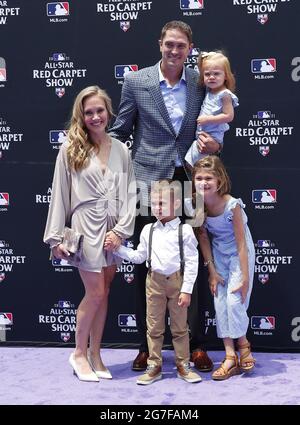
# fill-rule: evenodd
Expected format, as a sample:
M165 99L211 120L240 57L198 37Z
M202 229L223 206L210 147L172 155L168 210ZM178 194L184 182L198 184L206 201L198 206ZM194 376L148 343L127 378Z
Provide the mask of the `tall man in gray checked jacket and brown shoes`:
M121 141L133 135L132 159L140 201L148 205L146 187L151 181L174 179L181 182L189 178L184 157L196 132L196 120L203 101L203 89L198 84L198 73L184 66L192 48L192 30L181 21L168 22L159 40L161 61L154 66L126 74L122 88L119 112L110 134ZM216 153L220 145L208 134L199 138L199 150ZM141 208L142 209L142 208ZM138 216L135 235L149 221L150 216ZM138 266L136 320L142 343L133 362L133 370L147 366L146 339L146 270ZM198 279L199 280L199 279ZM203 284L203 283L201 283ZM197 285L195 285L196 287ZM189 311L191 330L191 360L200 371L212 370L213 363L203 348L203 330L199 317L198 292Z

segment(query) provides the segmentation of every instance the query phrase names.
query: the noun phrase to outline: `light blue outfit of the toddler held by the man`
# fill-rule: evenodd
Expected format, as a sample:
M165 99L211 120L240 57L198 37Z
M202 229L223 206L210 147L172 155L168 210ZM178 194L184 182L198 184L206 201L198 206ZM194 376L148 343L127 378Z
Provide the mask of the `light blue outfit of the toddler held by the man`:
M232 105L235 108L239 106L239 100L235 94L233 94L230 90L224 89L218 93L212 93L207 90L204 101L202 103L201 111L199 117L201 115L219 115L222 113L223 104L222 99L224 95L231 96ZM198 124L196 130L196 140L194 140L192 146L187 151L185 156L185 160L190 164L194 165L195 162L199 161L199 159L204 158L207 154L200 153L197 148L197 138L200 131L205 131L211 137L215 139L216 142L222 144L225 131L229 130L229 125L227 123L223 124Z

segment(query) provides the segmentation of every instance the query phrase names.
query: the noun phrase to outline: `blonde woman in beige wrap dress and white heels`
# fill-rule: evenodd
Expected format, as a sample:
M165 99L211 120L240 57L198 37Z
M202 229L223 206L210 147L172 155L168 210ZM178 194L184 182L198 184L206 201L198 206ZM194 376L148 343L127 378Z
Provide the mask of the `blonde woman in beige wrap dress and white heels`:
M69 362L83 381L112 376L100 356L110 284L120 260L113 254L134 230L136 185L127 147L107 134L111 99L98 86L76 97L68 140L57 156L44 234L55 258L68 259L66 224L84 235L78 270L85 295L77 309L76 348ZM105 250L104 250L105 246ZM88 351L89 344L89 351Z

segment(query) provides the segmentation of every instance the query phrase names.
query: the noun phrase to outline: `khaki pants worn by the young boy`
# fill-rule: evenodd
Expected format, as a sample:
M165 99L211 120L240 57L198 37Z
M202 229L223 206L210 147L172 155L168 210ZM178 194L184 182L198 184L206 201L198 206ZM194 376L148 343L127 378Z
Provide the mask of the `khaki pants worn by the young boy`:
M189 363L189 334L187 307L179 307L182 286L180 271L170 276L151 272L146 279L148 364L161 366L161 350L165 333L165 315L168 307L170 329L176 365Z

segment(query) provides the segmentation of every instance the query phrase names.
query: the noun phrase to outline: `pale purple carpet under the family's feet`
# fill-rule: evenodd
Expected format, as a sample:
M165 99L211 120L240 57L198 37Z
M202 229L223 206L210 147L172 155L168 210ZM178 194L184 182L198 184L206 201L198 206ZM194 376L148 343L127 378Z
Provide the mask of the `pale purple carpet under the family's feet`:
M176 377L172 351L163 352L163 379L143 387L130 369L135 350L103 349L113 380L81 382L71 348L0 347L0 405L300 405L300 354L255 353L251 375L216 382L210 373L188 384ZM210 352L215 365L222 352Z

